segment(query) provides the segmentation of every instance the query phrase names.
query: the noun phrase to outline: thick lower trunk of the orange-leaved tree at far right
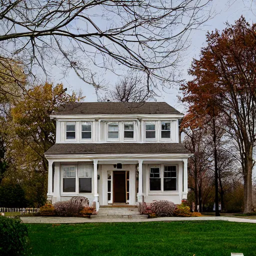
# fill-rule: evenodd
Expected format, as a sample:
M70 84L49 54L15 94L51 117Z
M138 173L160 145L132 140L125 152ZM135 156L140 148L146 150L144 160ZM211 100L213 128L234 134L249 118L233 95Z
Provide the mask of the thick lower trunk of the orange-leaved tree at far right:
M243 189L244 189L244 206L243 212L252 212L252 157L246 157L245 162L245 171L243 174Z

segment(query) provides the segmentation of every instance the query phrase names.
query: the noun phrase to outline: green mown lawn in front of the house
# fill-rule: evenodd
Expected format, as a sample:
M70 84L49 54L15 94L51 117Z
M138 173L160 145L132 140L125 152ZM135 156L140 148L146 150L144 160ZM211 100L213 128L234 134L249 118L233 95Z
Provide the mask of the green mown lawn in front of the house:
M256 224L173 221L26 224L32 255L256 255Z

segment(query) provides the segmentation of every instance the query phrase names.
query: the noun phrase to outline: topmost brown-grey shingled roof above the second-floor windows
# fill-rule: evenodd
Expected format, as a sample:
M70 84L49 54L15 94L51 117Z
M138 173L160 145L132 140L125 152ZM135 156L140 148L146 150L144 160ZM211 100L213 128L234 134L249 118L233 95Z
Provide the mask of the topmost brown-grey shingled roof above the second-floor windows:
M181 114L166 102L75 102L56 114Z

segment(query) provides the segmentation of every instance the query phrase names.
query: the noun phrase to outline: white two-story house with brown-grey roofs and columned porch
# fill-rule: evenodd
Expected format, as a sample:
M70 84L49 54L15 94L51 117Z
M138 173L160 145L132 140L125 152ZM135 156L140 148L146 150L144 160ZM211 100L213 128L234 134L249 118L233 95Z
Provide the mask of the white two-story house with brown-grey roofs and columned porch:
M165 102L78 102L59 108L56 143L45 156L48 199L75 195L96 205L187 196L189 152L179 141L182 113Z

